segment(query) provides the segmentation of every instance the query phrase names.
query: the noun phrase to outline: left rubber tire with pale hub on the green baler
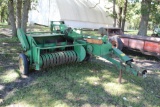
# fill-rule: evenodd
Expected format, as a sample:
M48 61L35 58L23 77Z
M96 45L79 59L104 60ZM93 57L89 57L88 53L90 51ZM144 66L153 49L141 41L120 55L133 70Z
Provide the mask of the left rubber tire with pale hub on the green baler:
M23 64L20 65L20 60L22 59ZM23 66L23 68L21 68ZM29 61L27 59L27 56L23 53L19 54L19 69L20 73L23 75L29 74Z

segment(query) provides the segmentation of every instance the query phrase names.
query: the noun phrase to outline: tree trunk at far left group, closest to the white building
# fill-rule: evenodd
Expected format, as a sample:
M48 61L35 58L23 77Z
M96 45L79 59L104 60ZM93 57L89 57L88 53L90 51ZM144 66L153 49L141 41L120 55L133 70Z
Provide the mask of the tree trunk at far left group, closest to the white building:
M21 28L24 30L24 32L26 32L26 29L27 29L30 2L31 2L30 0L24 0L23 2L23 15L22 15Z

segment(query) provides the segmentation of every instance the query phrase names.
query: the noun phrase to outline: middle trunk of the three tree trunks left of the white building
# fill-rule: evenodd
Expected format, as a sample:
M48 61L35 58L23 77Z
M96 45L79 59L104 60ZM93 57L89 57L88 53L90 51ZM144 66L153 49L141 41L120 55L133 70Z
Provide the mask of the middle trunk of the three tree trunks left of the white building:
M21 28L21 16L22 16L22 0L17 0L17 28Z

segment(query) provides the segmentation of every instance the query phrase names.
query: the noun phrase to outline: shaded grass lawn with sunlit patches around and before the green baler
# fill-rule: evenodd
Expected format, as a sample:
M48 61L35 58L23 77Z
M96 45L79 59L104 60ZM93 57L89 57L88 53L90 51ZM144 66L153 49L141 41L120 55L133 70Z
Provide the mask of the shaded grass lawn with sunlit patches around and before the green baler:
M18 72L17 38L0 35L2 107L160 107L160 74L140 78L98 59L60 65L28 76Z

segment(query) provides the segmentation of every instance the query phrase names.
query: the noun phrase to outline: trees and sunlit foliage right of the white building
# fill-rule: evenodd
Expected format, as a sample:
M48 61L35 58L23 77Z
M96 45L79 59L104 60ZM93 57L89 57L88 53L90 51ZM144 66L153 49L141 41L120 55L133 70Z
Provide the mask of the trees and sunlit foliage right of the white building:
M138 35L145 36L148 28L153 29L160 25L160 0L110 0L110 2L113 2L113 11L110 15L114 19L114 27L117 25L124 31L127 21L130 28L139 30Z

